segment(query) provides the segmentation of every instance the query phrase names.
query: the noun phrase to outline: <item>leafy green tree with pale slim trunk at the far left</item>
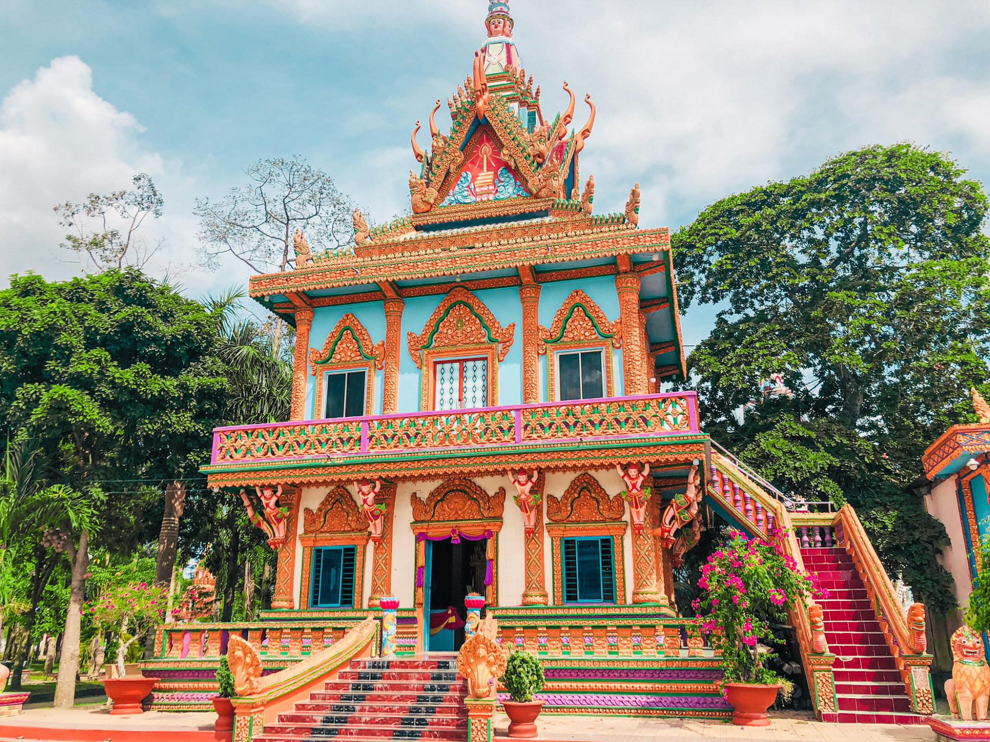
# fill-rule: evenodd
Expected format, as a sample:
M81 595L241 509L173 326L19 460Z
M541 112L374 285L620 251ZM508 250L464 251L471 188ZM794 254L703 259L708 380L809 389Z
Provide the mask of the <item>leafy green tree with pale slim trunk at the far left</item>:
M0 292L0 415L38 439L50 483L82 493L94 513L61 524L72 580L58 706L74 697L92 538L118 553L152 540L160 497L143 483L189 476L209 456L228 386L213 352L220 322L133 268L15 276Z

